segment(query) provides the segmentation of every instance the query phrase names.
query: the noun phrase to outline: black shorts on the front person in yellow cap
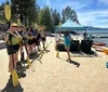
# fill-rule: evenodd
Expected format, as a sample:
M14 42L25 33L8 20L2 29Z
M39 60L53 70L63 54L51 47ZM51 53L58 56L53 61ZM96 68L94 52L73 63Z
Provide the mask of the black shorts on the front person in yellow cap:
M6 45L6 51L9 55L18 52L18 50L19 50L19 44Z

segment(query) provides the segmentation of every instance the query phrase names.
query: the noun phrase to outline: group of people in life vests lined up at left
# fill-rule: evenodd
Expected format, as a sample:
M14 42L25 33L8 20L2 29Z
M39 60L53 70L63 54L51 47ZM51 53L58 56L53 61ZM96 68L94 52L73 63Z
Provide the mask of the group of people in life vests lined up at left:
M27 29L13 23L4 36L4 41L9 55L9 71L12 73L13 68L16 68L18 53L21 53L22 57L23 47L25 47L28 57L33 53L36 47L40 51L40 41L42 41L43 50L45 50L46 32L41 30L35 31L32 26Z

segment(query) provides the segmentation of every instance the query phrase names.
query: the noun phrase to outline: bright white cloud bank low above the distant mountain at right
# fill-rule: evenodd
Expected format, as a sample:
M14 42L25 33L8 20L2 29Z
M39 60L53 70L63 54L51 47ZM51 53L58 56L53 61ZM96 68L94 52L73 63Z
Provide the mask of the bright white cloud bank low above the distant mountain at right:
M108 10L78 13L78 19L85 26L108 27L108 24L106 24L108 19L105 17L108 17Z

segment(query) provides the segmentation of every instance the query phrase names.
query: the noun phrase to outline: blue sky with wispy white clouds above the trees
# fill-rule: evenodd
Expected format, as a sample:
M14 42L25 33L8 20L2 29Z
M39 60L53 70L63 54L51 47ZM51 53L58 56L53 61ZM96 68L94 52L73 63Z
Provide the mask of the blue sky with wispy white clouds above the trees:
M6 0L0 0L4 2ZM78 14L82 25L95 27L108 27L108 1L107 0L37 0L39 6L56 9L59 13L69 5Z

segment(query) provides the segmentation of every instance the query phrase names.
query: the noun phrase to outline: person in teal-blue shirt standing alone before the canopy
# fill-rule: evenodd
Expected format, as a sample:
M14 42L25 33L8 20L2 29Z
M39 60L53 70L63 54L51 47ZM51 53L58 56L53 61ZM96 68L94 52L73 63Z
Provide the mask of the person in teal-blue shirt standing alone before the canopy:
M67 54L68 54L68 58L66 61L67 62L70 62L71 58L70 58L69 49L70 49L71 36L69 35L69 31L68 30L65 31L64 40L65 40L65 49L66 49Z

